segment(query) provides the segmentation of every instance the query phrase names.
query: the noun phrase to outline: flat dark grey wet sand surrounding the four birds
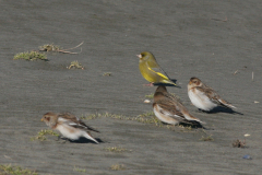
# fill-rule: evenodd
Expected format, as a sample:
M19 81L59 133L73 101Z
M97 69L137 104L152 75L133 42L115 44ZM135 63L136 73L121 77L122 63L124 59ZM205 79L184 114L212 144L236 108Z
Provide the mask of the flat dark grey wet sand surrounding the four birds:
M85 174L261 174L260 1L2 1L0 10L0 164L39 174L78 174L74 166ZM13 60L44 44L70 48L81 42L79 55ZM47 129L40 122L47 112L128 117L152 112L143 100L156 86L143 86L147 82L135 57L144 50L178 80L182 89L168 91L206 122L214 141L201 141L202 129L172 131L111 118L85 120L102 132L94 133L100 144L61 143L55 137L31 141ZM85 70L67 69L73 60ZM191 77L217 90L243 115L199 113L187 95ZM233 148L237 139L246 139L248 148ZM105 151L110 147L132 151ZM242 159L246 154L252 160ZM111 171L115 164L127 170Z

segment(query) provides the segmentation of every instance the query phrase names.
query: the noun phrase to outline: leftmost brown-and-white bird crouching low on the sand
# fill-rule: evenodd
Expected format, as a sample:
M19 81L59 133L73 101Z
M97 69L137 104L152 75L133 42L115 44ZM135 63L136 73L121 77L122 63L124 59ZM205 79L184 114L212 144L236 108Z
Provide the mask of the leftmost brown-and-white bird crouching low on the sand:
M41 121L45 121L51 129L58 130L64 138L70 140L78 140L81 137L85 137L98 143L98 141L91 136L90 131L99 131L88 127L72 114L47 113L43 116Z

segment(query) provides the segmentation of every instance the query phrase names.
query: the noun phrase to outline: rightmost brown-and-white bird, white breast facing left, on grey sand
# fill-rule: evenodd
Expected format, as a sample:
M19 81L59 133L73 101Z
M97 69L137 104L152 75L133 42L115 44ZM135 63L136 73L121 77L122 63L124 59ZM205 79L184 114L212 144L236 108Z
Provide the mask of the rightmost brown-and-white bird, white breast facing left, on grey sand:
M192 104L199 109L210 112L221 105L228 108L236 108L211 88L205 85L200 79L191 78L188 84L188 95Z

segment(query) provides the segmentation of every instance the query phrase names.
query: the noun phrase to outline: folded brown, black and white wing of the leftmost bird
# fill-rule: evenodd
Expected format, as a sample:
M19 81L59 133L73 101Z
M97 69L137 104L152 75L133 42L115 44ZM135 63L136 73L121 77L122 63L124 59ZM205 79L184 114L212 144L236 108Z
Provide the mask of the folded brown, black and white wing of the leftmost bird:
M84 130L92 130L92 131L96 131L99 132L98 130L87 126L84 121L82 121L81 119L79 119L78 117L75 117L72 114L66 113L66 114L61 114L58 116L58 121L61 121L63 124L67 124L71 127L74 128L79 128L79 129L84 129Z

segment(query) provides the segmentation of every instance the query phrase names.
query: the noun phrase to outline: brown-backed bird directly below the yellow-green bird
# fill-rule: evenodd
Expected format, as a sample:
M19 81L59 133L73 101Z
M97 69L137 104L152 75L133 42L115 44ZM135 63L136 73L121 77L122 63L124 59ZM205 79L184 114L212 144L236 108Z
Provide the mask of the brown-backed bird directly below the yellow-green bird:
M166 124L204 124L199 118L192 116L176 96L167 92L164 85L159 85L155 91L153 110L156 117Z

